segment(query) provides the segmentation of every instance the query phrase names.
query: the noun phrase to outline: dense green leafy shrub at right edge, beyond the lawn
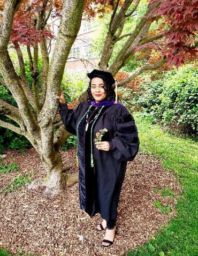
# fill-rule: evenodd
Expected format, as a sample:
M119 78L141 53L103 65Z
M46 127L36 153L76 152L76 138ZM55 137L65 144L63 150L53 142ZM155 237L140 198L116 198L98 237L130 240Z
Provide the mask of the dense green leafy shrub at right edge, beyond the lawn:
M136 95L134 100L154 122L161 120L164 125L174 122L197 134L197 81L198 71L191 65L182 66L178 71L166 72L161 80L143 85L146 92Z

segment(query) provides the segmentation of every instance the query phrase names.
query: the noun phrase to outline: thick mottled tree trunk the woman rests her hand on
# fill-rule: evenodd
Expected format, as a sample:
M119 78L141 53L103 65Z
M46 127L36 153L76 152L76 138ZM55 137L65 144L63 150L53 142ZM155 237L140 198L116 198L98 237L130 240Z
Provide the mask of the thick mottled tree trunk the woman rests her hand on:
M51 197L54 197L62 191L65 184L62 174L63 166L60 153L57 152L57 149L54 146L53 122L59 107L56 95L60 94L60 82L63 78L66 60L80 29L84 2L84 0L64 2L58 39L47 77L45 101L38 116L42 150L44 152L44 154L42 154L42 161L48 173L47 181L45 183L45 193Z

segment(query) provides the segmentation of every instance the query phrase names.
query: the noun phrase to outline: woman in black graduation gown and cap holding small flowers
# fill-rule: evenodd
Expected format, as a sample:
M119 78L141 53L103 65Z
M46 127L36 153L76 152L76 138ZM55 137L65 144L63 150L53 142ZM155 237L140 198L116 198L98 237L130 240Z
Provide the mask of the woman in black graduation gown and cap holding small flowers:
M65 129L77 135L80 209L90 217L100 213L103 220L97 229L106 229L102 245L108 247L115 237L127 161L133 161L140 142L133 116L117 102L112 74L93 70L87 76L87 100L76 109L68 109L63 91L57 99ZM102 129L107 131L95 142Z

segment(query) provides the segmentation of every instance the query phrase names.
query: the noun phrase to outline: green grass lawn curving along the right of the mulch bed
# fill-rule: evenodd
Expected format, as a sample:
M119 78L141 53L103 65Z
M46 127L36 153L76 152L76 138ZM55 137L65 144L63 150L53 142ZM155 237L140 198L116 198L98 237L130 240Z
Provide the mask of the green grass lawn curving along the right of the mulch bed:
M177 217L162 227L161 232L154 235L155 239L129 251L127 256L197 256L198 145L191 138L161 131L159 125L151 124L149 118L142 119L138 113L133 116L140 137L140 152L153 155L162 162L164 169L173 171L182 194L177 201ZM173 196L170 190L161 194Z

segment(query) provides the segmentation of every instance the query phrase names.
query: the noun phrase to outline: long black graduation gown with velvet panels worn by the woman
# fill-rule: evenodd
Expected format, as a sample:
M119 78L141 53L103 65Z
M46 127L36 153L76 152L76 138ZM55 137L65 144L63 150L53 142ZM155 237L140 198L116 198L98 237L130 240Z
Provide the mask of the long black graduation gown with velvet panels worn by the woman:
M119 104L100 107L100 114L86 132L87 111L91 113L95 107L88 101L79 103L76 109L68 109L67 103L59 106L66 131L77 135L80 209L90 217L100 213L106 221L116 219L127 161L133 161L140 144L133 116ZM109 151L97 149L94 143L96 132L104 128L108 132L102 141L109 142Z

